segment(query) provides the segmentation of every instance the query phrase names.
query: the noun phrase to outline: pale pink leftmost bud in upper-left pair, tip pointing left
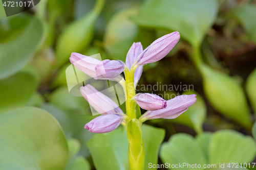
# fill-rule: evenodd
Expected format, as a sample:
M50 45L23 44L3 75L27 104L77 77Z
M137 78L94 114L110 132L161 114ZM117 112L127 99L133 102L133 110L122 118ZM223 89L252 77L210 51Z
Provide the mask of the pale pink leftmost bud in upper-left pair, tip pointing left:
M70 59L70 62L75 67L80 69L82 72L84 72L85 74L93 78L95 77L96 75L95 66L100 63L99 60L92 57L84 56L78 53L72 53L69 59Z

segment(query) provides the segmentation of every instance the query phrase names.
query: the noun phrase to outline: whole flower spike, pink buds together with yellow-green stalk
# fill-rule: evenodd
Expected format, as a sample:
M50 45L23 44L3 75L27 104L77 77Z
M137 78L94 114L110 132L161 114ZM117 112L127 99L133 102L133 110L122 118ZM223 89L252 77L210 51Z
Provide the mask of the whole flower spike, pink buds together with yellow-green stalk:
M71 63L94 79L119 82L125 93L126 114L108 96L99 92L92 85L80 87L84 99L101 115L87 123L84 128L94 133L106 133L115 130L122 124L129 141L130 169L143 169L144 143L142 138L142 123L148 119L173 119L185 112L196 102L196 94L179 95L165 101L160 96L151 93L136 94L135 87L141 77L144 64L153 63L165 57L178 43L180 34L173 32L155 40L143 51L140 42L133 43L126 55L125 64L122 61L103 60L72 53ZM120 75L124 72L125 80ZM148 110L141 115L136 110L139 105Z

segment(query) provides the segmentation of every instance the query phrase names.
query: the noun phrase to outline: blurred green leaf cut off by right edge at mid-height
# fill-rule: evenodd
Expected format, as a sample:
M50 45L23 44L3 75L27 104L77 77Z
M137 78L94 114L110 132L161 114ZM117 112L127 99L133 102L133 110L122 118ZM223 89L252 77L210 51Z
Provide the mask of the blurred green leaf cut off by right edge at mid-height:
M256 114L256 69L254 69L249 77L247 78L245 89L248 95L248 98L250 100L250 103L252 105L252 108L254 109L254 114Z

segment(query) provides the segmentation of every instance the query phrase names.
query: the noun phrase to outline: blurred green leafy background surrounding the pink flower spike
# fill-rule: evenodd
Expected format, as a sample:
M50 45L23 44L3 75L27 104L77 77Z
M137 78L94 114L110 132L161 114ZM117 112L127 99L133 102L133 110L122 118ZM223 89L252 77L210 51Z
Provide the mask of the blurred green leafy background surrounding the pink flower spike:
M146 122L145 169L156 169L149 162L252 169L256 1L249 0L41 0L1 17L0 169L129 169L123 127L108 134L83 129L94 116L86 100L69 94L69 57L100 53L125 61L133 42L145 48L173 31L180 41L144 66L137 92L165 100L196 93L198 100L176 119ZM159 83L193 89L141 89Z

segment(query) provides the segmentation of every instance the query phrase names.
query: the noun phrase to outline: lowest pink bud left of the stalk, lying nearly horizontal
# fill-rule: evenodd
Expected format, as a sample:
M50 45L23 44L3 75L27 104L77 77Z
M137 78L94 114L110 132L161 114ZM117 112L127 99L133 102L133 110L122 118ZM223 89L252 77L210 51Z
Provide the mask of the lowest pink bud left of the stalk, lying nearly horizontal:
M94 133L111 132L121 124L123 118L120 114L101 115L92 119L84 128Z

